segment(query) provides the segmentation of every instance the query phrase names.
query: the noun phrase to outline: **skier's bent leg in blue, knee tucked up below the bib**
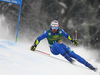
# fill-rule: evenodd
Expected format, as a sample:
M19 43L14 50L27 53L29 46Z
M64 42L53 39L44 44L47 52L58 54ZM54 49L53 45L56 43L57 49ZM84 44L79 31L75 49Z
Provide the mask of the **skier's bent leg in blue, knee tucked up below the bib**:
M61 47L61 45L59 43L54 43L52 48L51 48L51 52L55 55L61 54L62 56L64 56L68 61L70 61L71 63L73 63L73 60L71 59L71 57L66 53L66 51Z

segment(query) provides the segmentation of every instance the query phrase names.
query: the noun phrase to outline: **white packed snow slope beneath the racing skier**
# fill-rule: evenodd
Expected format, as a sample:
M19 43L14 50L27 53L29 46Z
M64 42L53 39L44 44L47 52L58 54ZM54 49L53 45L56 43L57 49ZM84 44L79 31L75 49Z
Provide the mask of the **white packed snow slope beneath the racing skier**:
M42 45L41 50L46 52L43 50L44 47ZM47 53L50 53L50 56L33 52L29 48L29 45L26 44L1 40L0 75L99 75L99 70L94 72L77 61L70 64L61 55L52 55L49 49ZM91 59L92 53L84 53L85 50L82 50L82 47L74 49L77 49L77 53L100 69L100 64L95 61L95 57Z

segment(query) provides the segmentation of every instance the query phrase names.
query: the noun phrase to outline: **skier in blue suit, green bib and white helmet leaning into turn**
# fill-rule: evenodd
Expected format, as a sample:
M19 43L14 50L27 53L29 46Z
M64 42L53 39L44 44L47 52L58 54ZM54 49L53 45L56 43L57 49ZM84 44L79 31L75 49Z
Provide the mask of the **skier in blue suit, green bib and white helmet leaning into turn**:
M66 37L68 40L70 40L73 44L78 45L77 40L73 40L63 29L59 28L60 24L57 20L53 20L50 25L50 29L47 31L44 31L43 34L41 34L34 42L34 44L31 46L31 50L35 51L37 45L39 42L47 38L50 51L54 55L61 54L64 56L70 63L74 63L74 59L76 59L78 62L84 64L86 67L90 68L91 70L96 71L97 68L93 67L90 63L88 63L84 58L76 54L74 51L72 51L68 46L62 43L61 38L62 36Z

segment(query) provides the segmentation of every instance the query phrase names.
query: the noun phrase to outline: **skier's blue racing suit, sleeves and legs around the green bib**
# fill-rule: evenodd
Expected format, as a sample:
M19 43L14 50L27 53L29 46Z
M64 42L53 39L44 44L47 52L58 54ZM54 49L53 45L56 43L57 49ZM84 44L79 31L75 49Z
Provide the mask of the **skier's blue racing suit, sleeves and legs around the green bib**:
M49 32L48 32L49 31ZM63 30L63 29L59 29L56 33L52 33L51 30L48 31L44 31L38 38L37 41L38 43L44 39L44 38L49 38L49 35L52 34L52 36L54 35L58 35L59 33L61 33L62 36L66 37L68 40L72 40L71 37ZM37 43L37 44L38 44ZM65 44L63 44L61 41L58 42L54 42L52 45L49 44L50 47L50 51L54 54L54 55L58 55L61 54L62 56L64 56L68 61L70 61L72 58L75 58L78 62L84 64L87 67L91 67L92 65L89 64L88 62L86 62L86 60L84 58L82 58L81 56L79 56L78 54L76 54L74 51L71 51L70 47L66 46Z

